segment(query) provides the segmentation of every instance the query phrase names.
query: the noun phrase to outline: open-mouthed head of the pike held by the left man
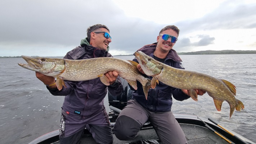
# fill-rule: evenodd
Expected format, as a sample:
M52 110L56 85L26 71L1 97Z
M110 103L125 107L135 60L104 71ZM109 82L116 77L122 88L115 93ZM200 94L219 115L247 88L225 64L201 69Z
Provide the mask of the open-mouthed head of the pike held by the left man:
M46 76L57 77L66 68L64 59L32 58L24 55L22 55L22 58L26 60L27 64L18 63L19 66L31 71L40 72Z

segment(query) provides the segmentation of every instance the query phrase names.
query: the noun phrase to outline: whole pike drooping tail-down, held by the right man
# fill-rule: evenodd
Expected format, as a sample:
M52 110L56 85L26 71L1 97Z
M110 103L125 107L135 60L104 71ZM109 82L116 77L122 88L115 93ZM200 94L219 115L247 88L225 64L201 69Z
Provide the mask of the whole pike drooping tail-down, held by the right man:
M135 57L138 59L145 74L153 77L151 81L152 88L156 86L156 82L159 80L166 85L189 90L191 98L195 101L198 99L197 92L194 89L205 90L214 99L217 111L221 111L221 105L224 100L229 103L229 118L231 118L234 109L237 111L244 109L243 103L234 96L236 90L231 82L199 72L170 67L149 57L142 51L135 52Z

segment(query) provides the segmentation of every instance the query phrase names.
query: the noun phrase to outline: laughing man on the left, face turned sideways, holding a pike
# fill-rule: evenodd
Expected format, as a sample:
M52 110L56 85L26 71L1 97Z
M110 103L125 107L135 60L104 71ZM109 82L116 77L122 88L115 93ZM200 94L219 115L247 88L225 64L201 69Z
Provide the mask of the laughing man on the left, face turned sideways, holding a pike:
M69 51L64 59L90 59L112 57L108 53L111 36L109 29L102 24L95 24L87 29L87 38L80 46ZM64 81L67 87L58 90L55 78L36 73L53 95L65 96L59 128L60 144L79 144L84 129L88 129L97 144L113 142L112 129L104 106L104 97L109 93L118 95L122 84L116 71L105 73L109 86L99 78L88 81Z

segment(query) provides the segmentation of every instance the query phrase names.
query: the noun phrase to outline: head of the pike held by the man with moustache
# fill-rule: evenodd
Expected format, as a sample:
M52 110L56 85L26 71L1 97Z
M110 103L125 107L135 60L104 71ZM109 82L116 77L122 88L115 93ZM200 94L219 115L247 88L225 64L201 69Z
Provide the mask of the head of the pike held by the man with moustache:
M146 75L156 76L162 72L163 64L144 54L142 51L136 51L135 57Z

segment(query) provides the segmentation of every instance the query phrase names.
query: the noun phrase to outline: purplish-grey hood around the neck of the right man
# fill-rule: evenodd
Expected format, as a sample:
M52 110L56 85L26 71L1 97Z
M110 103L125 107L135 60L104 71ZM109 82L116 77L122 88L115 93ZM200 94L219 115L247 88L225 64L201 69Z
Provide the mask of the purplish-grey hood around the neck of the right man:
M150 54L154 53L154 51L156 50L156 46L157 46L157 43L145 45L142 48L138 49L137 51L142 51L146 55L150 55ZM133 54L133 55L135 55L135 54ZM179 57L179 55L177 54L177 52L174 49L171 49L169 51L166 58L172 59L175 62L182 62L181 58Z

